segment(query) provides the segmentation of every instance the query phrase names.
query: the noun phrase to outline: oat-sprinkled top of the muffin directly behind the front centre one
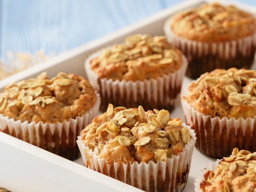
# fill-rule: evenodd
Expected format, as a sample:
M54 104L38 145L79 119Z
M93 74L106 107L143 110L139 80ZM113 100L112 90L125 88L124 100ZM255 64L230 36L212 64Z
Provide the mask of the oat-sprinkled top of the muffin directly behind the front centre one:
M133 35L115 44L91 61L99 78L136 81L156 79L182 66L182 53L165 36Z

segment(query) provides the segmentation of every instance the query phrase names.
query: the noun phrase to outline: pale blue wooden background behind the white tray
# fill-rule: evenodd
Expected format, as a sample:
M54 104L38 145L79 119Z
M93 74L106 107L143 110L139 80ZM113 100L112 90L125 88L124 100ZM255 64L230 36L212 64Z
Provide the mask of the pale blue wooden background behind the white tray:
M58 54L180 2L0 0L0 58L6 60L6 51Z

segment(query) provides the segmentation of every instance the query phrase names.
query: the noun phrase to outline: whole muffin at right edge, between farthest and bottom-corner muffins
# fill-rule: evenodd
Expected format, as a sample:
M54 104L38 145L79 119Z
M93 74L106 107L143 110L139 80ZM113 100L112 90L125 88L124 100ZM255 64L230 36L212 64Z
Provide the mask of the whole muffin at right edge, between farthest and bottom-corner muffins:
M237 147L256 151L256 71L230 68L203 74L181 100L196 147L213 157Z

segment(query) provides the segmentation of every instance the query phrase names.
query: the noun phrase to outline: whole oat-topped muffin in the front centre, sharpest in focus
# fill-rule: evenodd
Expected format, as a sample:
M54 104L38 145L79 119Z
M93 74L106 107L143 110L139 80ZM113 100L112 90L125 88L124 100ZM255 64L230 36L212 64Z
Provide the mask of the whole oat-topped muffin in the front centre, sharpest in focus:
M181 191L195 133L167 110L108 105L81 132L77 144L84 165L145 191Z

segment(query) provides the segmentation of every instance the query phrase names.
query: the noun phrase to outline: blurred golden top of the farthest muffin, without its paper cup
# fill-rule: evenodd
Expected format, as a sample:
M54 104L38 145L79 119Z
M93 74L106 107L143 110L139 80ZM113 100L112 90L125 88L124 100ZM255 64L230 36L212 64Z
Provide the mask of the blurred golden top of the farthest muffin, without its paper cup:
M202 4L172 17L171 29L183 38L201 42L230 41L255 33L252 14L233 5Z

